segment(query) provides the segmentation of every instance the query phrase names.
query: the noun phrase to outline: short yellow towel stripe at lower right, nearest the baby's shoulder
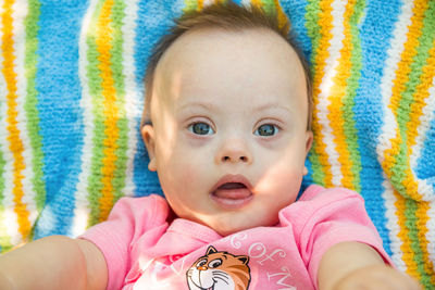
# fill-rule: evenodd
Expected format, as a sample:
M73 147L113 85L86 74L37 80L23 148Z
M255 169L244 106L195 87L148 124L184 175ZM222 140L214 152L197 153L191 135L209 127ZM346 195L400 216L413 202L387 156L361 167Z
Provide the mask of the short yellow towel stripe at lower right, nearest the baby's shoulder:
M407 269L406 272L411 275L412 277L415 277L417 279L421 279L420 273L418 270L417 262L413 259L413 250L409 243L409 229L406 225L406 218L400 216L400 213L406 212L406 199L396 190L394 190L394 196L396 197L396 202L395 206L397 209L396 214L398 215L398 225L399 225L399 232L397 234L397 237L402 241L400 245L400 251L402 253L401 260L406 263ZM403 215L403 214L401 214Z

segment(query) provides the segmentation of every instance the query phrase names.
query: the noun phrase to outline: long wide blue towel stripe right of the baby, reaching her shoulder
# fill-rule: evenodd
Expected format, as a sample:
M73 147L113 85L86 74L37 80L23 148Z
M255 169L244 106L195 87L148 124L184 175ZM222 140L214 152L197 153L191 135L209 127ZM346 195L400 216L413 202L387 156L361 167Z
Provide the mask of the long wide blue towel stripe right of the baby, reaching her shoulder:
M360 87L357 90L353 108L357 121L358 140L361 153L361 194L365 207L384 241L384 248L391 254L385 201L382 167L377 161L376 144L384 119L381 80L386 66L387 50L394 27L400 14L401 4L390 1L388 5L382 0L368 1L366 17L360 28L362 48L362 71ZM370 112L370 113L368 113Z

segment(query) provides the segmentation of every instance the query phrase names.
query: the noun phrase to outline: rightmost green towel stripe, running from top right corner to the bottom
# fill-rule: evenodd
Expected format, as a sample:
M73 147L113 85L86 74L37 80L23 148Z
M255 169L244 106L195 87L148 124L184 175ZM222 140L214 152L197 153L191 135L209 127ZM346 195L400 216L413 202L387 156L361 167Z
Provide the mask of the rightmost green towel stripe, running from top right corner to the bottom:
M410 245L413 251L413 259L415 264L418 265L417 270L421 275L421 282L426 287L434 287L431 283L431 275L433 273L427 273L425 270L423 261L424 261L424 251L422 249L422 244L419 239L419 220L417 220L415 212L418 210L415 201L411 200L407 192L407 188L403 185L406 179L406 169L409 164L409 157L407 155L407 142L408 142L408 133L409 126L415 126L414 123L410 119L410 109L411 105L418 100L419 96L415 96L417 87L421 84L421 76L423 74L423 66L427 65L427 59L430 58L428 51L433 46L433 41L435 38L435 20L433 17L435 15L435 1L428 2L428 8L425 11L425 17L423 20L422 34L419 37L419 45L417 47L417 54L413 58L413 62L410 65L411 72L409 74L409 79L407 84L405 84L405 91L401 94L399 106L397 109L397 121L399 125L399 133L402 138L401 143L399 144L399 152L396 154L396 162L393 164L390 177L391 184L403 196L407 197L407 209L405 212L405 216L407 217L406 226L409 228L408 238L410 240ZM423 225L424 227L424 225Z

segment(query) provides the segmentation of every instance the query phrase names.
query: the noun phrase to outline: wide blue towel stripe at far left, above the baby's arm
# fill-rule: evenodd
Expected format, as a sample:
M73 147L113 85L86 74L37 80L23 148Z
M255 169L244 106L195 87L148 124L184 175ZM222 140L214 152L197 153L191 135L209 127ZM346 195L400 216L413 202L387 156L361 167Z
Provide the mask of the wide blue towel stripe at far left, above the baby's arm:
M78 37L87 1L41 1L36 89L42 138L46 207L35 238L70 235L84 137Z

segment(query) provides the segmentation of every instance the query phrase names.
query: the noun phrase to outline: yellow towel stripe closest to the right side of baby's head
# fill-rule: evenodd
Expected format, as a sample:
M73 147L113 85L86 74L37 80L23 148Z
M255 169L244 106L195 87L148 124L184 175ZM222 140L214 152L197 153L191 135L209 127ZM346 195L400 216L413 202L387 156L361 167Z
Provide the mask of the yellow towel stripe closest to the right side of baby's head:
M325 177L323 180L323 185L326 187L332 186L332 174L331 174L331 164L327 160L326 154L326 144L323 142L323 127L319 121L319 94L320 94L320 85L322 84L323 77L325 76L325 65L326 59L330 56L328 48L331 47L331 39L333 35L331 34L331 29L333 27L333 16L332 16L332 0L325 0L320 2L320 10L323 12L319 17L319 26L320 31L319 35L323 36L318 43L318 49L315 51L315 56L313 61L313 72L315 72L313 76L313 122L312 122L312 130L314 133L314 147L313 150L315 154L319 156L319 162L323 167ZM322 100L324 101L324 100Z

